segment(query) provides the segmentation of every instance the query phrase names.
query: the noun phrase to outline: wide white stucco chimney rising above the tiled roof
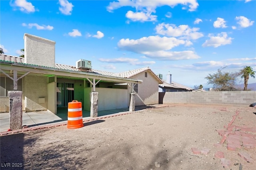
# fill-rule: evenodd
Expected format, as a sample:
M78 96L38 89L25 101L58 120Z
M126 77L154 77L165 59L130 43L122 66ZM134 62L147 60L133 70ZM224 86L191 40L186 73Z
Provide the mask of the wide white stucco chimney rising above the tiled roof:
M45 38L24 34L25 63L55 67L55 43Z

